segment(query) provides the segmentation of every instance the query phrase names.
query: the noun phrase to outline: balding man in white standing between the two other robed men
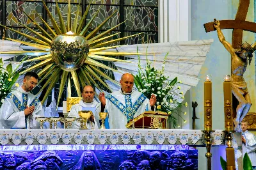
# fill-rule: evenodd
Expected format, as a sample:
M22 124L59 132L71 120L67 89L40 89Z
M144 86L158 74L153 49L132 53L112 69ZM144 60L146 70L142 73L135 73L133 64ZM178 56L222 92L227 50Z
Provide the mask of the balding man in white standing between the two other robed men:
M68 117L79 118L79 111L92 111L93 116L86 122L86 127L88 129L99 129L99 113L101 109L101 104L94 99L95 91L92 86L84 86L82 94L82 99L79 104L72 105ZM80 122L74 121L72 123L72 128L80 128Z

